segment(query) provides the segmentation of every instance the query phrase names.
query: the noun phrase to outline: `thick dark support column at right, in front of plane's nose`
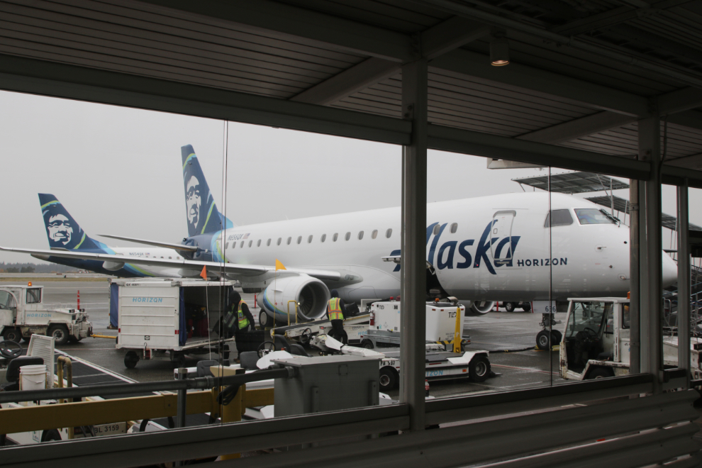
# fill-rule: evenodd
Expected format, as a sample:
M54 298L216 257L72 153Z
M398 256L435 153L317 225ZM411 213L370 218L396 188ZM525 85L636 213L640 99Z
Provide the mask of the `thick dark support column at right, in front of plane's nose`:
M645 243L640 237L641 253L641 371L654 374L654 389L660 391L663 370L662 347L662 239L661 239L661 172L660 119L657 113L639 121L639 157L650 161L650 177L645 181ZM641 188L641 187L640 187ZM639 199L641 200L642 194ZM644 211L644 210L640 210ZM641 221L641 220L640 220ZM643 260L642 258L640 260Z

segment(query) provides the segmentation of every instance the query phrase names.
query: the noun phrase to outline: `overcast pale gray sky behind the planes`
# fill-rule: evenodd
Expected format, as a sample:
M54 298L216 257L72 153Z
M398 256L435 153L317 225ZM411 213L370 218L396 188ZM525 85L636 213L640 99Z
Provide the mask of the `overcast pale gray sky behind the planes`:
M191 144L222 205L222 121L0 91L4 200L0 245L48 248L37 194L88 235L179 242L187 233L180 147ZM401 147L229 124L227 216L239 225L399 206ZM482 157L430 152L428 201L520 192L540 169L486 169ZM554 169L553 172L564 172ZM617 195L628 198L628 191ZM675 213L672 187L664 211ZM702 225L702 191L691 222ZM664 245L667 245L664 234ZM0 261L38 262L0 252Z

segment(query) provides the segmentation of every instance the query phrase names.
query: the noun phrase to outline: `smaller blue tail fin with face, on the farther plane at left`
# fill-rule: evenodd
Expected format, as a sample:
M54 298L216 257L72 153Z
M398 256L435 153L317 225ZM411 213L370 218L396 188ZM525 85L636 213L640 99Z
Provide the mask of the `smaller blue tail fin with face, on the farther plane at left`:
M89 238L55 196L39 194L39 204L49 247L67 250L99 248L99 243Z

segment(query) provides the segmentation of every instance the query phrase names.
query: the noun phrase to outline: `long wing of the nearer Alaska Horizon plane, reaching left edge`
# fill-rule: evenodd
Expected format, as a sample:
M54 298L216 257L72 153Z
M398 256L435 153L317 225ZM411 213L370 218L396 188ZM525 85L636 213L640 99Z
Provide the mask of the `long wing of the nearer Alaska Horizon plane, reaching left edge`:
M124 255L111 255L105 253L89 253L69 250L42 250L42 249L17 249L13 247L0 247L0 250L5 252L20 252L30 255L45 255L51 257L74 258L79 260L95 260L99 262L116 262L129 264L152 265L155 267L180 268L199 272L202 267L207 267L211 272L223 272L230 277L236 277L243 281L252 279L255 281L264 281L274 277L286 277L296 274L307 274L313 278L321 279L322 281L340 281L340 272L325 269L307 269L307 268L289 268L275 269L274 265L249 265L237 263L221 263L221 262L201 262L198 260L172 260L162 258L147 258L147 257L126 257Z

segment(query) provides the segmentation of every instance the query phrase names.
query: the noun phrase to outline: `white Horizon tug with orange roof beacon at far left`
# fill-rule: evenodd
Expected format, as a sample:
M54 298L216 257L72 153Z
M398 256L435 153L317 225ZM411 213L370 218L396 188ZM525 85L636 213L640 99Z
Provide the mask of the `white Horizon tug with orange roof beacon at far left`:
M43 296L43 286L31 283L0 287L0 333L5 340L29 341L36 334L65 345L92 335L85 309L45 308Z

